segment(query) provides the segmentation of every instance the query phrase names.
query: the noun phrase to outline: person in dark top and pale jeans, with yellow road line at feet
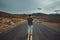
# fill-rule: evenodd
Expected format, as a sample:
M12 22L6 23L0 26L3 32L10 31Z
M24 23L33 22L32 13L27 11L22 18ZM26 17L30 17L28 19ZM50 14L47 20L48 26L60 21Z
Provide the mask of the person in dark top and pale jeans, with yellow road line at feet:
M28 22L28 40L32 40L33 18L31 15L28 16L27 22Z

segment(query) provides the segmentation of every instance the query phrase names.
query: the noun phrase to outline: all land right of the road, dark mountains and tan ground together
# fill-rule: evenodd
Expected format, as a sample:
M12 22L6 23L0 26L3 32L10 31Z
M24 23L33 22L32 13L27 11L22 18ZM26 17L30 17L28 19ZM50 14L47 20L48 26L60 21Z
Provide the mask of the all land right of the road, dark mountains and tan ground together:
M33 13L32 15L36 16L37 22L60 29L60 14Z

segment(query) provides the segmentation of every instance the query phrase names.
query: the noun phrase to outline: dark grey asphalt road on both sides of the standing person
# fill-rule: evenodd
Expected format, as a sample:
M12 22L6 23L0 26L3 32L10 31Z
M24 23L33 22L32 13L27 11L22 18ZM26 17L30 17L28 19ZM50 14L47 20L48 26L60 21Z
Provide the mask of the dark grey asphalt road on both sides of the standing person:
M60 40L60 30L41 23L33 24L33 40ZM0 40L27 40L28 24L26 22L0 34Z

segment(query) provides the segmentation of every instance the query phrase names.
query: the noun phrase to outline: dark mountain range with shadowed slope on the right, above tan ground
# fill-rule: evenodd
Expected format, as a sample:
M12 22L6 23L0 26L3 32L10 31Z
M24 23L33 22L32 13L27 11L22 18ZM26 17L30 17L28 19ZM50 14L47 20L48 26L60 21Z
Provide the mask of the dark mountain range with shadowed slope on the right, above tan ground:
M44 13L33 13L33 16L43 18L46 21L51 21L51 22L60 22L60 14L44 14Z

